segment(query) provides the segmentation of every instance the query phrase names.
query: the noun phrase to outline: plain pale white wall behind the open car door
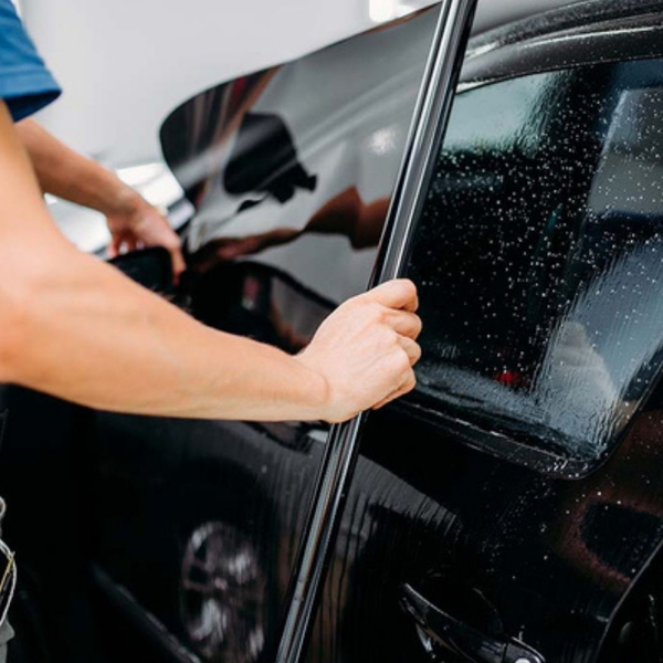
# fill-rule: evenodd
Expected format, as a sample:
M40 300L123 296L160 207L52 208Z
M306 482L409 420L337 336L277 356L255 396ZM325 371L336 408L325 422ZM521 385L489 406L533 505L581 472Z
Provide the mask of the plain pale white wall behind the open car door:
M569 1L569 0L566 0ZM162 118L196 92L375 25L431 0L22 0L63 85L41 122L123 165L159 155ZM477 25L565 0L483 0Z

